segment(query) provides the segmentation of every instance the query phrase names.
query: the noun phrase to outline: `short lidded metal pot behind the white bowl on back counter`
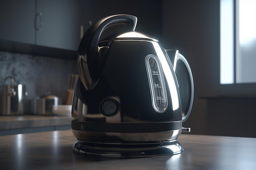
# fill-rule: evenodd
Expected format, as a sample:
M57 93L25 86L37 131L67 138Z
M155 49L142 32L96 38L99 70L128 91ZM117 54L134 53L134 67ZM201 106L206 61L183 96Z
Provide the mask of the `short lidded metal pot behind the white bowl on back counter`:
M53 115L52 106L61 105L60 97L50 95L49 93L36 97L34 99L34 114L36 115Z

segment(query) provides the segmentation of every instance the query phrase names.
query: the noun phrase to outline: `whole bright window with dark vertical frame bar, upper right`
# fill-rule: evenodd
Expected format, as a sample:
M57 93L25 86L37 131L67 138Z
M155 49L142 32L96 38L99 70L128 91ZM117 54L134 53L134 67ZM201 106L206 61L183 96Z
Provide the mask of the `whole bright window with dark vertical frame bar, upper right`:
M220 0L220 84L256 83L256 0Z

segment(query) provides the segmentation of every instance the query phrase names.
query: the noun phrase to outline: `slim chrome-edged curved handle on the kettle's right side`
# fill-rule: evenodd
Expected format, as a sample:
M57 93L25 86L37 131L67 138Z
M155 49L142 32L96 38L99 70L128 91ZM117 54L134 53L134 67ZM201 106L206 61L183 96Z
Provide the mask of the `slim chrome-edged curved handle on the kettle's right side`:
M191 109L192 109L192 105L193 105L193 99L194 99L194 82L193 82L193 75L192 75L192 71L191 68L189 66L189 63L187 62L186 58L178 53L178 57L177 57L177 62L181 61L183 62L183 64L186 66L188 74L189 74L189 78L190 78L190 91L191 91L191 95L190 95L190 104L189 104L189 108L187 110L186 113L182 114L182 121L185 121L186 119L188 119Z

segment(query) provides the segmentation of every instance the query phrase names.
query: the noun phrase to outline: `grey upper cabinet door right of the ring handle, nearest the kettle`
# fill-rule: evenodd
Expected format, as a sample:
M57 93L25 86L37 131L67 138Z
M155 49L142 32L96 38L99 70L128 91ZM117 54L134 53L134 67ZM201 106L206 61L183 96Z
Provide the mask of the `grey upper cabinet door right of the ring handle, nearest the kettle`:
M80 0L37 0L43 25L36 45L77 51L80 43ZM36 17L36 24L40 17ZM38 26L37 26L38 27Z

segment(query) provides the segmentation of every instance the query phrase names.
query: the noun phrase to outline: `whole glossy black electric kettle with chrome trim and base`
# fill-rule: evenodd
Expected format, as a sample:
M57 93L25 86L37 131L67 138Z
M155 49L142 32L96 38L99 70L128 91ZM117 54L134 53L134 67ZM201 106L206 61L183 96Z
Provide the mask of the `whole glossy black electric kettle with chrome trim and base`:
M135 16L112 15L92 24L81 40L72 103L76 153L148 157L183 150L177 139L188 130L182 121L193 103L189 64L136 32L136 24ZM102 39L117 25L124 30Z

